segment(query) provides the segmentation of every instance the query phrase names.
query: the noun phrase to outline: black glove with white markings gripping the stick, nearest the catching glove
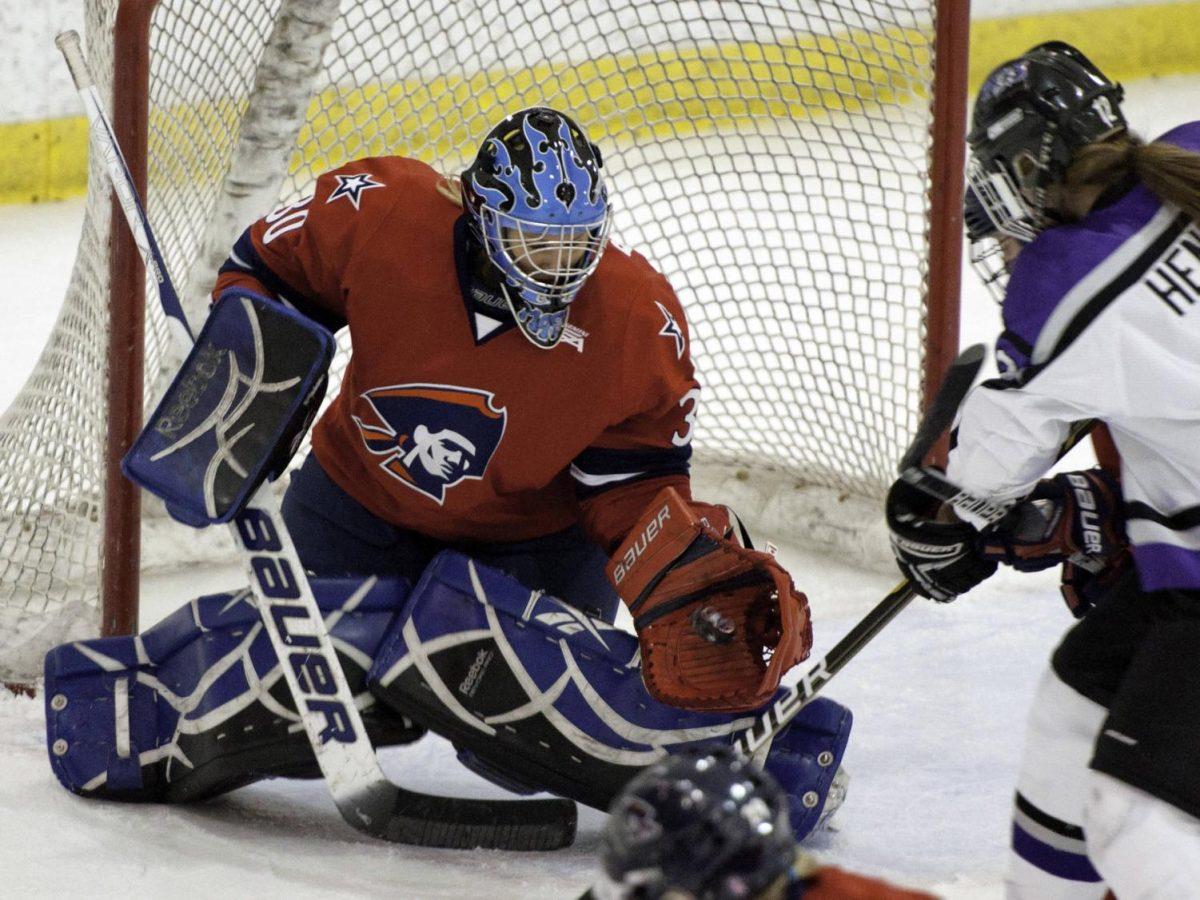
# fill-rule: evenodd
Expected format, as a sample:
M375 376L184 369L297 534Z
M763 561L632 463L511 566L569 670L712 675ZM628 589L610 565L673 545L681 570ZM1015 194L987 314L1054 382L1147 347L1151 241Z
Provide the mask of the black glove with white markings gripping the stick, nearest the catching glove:
M979 554L979 532L966 522L938 522L941 502L898 480L888 491L892 552L917 593L947 604L996 571Z

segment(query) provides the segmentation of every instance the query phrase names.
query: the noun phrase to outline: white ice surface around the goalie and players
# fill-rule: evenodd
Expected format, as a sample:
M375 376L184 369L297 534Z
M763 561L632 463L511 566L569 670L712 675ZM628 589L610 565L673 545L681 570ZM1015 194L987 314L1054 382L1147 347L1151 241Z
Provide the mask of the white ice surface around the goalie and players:
M1128 85L1147 137L1181 121L1198 78ZM0 209L0 408L53 325L82 202ZM966 274L962 343L991 341L998 311ZM1079 463L1086 452L1074 457ZM784 547L809 595L815 654L828 650L894 578ZM145 584L143 619L242 583L198 569ZM829 685L856 715L850 794L835 830L810 841L829 863L952 900L1002 895L1008 809L1025 710L1049 650L1073 619L1049 574L1002 572L949 606L918 601ZM6 896L574 898L587 884L602 816L581 810L570 850L432 851L359 836L320 782L274 781L197 806L89 803L47 764L41 700L0 692L0 872ZM383 754L407 786L499 796L426 738Z

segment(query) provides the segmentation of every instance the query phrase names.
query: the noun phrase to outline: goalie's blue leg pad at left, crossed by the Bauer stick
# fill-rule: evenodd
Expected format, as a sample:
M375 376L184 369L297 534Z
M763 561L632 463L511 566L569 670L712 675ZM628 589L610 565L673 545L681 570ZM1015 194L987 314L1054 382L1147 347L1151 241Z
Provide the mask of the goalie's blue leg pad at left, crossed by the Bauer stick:
M365 691L408 583L317 578L313 595L376 744L424 733ZM61 644L46 656L50 766L85 797L182 802L260 778L319 775L248 590L193 600L142 635Z

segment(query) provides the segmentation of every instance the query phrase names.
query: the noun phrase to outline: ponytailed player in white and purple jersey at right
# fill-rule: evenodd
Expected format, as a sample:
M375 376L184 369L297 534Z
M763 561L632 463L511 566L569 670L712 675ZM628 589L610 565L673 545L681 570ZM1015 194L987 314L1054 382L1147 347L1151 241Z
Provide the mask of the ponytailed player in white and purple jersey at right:
M966 217L972 256L998 260L1001 377L966 398L947 475L1020 503L979 534L904 482L888 498L896 559L936 600L997 562L1067 564L1080 622L1030 718L1014 898L1200 896L1200 122L1142 143L1122 97L1061 42L984 82ZM1039 481L1085 420L1120 486Z

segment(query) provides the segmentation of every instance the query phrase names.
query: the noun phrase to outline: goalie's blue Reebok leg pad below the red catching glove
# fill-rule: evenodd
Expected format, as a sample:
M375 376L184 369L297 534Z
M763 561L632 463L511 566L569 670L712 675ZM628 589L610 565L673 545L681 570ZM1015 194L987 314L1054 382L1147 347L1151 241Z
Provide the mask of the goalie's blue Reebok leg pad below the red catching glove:
M632 635L446 551L392 623L368 685L497 784L605 810L664 752L727 744L754 721L659 703L638 661ZM767 768L788 793L798 836L822 815L851 721L817 698L772 748Z

